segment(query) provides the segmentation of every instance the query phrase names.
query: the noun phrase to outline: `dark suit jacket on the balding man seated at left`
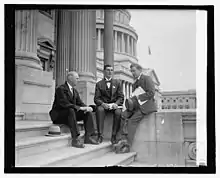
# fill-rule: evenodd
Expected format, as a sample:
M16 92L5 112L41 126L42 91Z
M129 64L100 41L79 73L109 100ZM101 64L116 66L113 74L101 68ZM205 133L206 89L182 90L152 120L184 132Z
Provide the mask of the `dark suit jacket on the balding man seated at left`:
M73 88L72 94L67 82L65 82L65 84L60 85L55 91L55 99L49 113L51 120L55 121L58 118L60 110L73 108L78 111L81 106L86 105L80 99L78 91Z

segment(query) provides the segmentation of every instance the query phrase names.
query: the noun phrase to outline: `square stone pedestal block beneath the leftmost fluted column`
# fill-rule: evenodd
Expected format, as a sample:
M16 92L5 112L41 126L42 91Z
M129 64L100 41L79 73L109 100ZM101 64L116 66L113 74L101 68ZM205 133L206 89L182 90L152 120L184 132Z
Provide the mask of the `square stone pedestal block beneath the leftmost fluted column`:
M25 119L30 113L48 114L55 90L52 72L20 65L15 70L16 113L24 113Z

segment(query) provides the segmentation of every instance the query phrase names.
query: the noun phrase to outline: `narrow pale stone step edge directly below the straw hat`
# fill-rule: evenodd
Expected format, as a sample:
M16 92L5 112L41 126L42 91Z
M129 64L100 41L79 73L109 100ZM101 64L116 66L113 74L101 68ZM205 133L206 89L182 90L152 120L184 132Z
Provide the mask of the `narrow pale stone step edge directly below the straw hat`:
M80 131L79 137L83 137L84 134L85 134L84 130ZM36 139L36 138L39 138L39 139ZM40 145L43 143L50 143L50 142L55 142L55 141L59 141L62 139L69 139L69 138L71 138L70 133L64 133L62 136L57 136L57 137L42 135L42 136L37 136L37 137L22 138L22 139L15 141L15 149L20 150L23 148L34 147L36 145Z

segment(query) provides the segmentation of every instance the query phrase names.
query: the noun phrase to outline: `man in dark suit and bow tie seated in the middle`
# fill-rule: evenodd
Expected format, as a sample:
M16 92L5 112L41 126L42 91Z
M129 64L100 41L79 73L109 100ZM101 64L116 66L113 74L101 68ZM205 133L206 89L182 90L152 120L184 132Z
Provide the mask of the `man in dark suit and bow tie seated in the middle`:
M96 84L94 102L97 105L96 119L98 130L98 142L103 140L104 119L107 112L112 112L113 126L111 142L116 142L116 135L120 129L121 108L124 102L124 94L121 82L112 78L113 67L104 66L104 78Z

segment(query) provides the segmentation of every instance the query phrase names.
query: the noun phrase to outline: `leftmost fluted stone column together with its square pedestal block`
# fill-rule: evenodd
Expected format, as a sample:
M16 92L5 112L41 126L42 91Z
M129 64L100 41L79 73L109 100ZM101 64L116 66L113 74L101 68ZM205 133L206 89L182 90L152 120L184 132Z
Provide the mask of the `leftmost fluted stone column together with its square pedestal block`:
M15 119L43 116L44 120L51 109L53 74L42 70L37 57L37 13L37 10L15 11ZM36 115L39 113L40 118Z

